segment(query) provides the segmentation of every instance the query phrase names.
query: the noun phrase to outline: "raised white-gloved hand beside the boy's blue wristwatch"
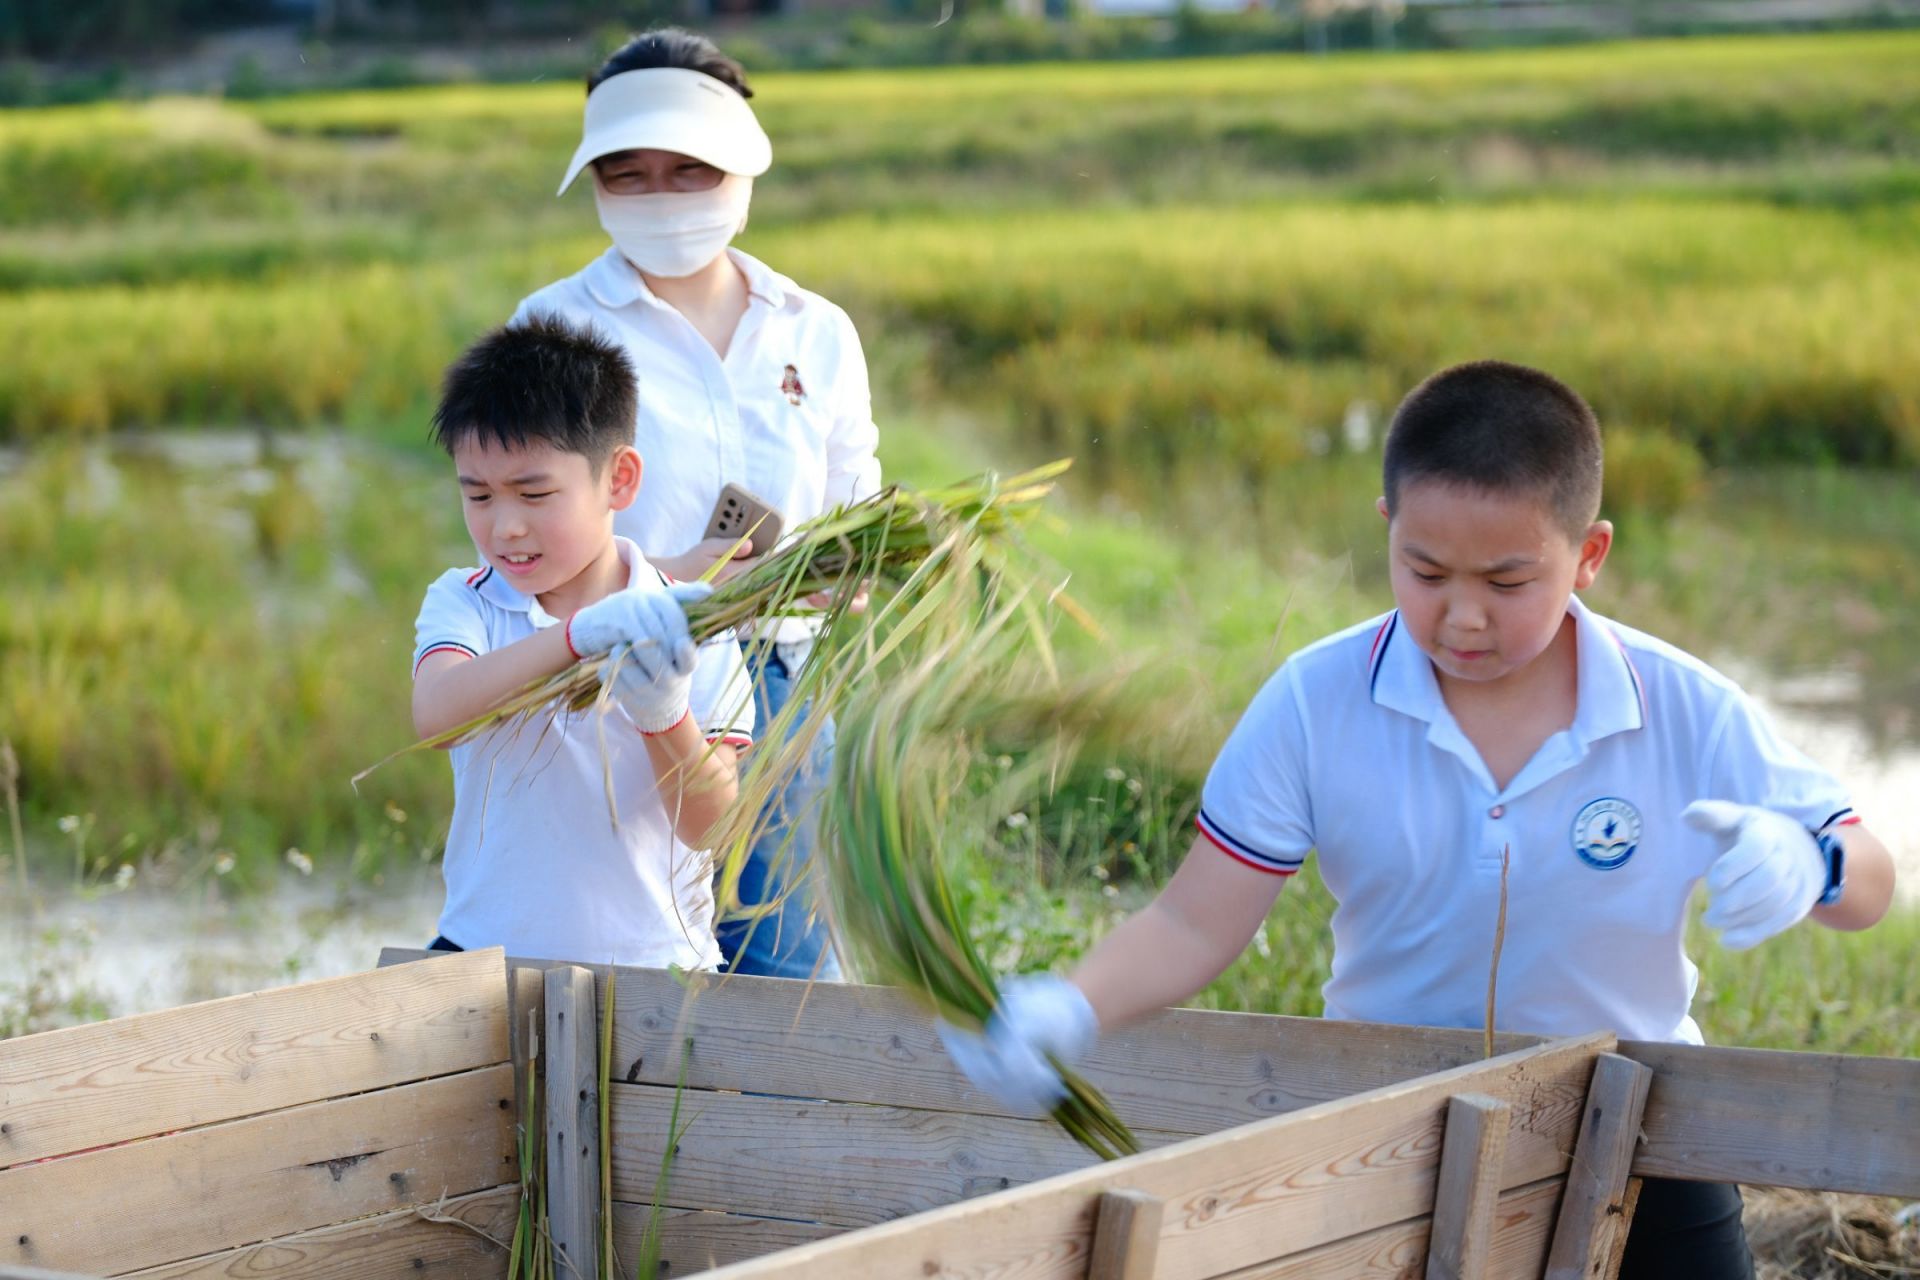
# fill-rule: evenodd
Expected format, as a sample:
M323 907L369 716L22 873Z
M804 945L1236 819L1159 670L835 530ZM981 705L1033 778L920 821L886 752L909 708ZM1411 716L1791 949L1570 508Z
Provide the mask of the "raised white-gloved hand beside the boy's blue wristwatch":
M1791 929L1826 890L1826 854L1807 827L1786 814L1732 800L1695 800L1680 814L1720 842L1707 869L1709 929L1720 946L1743 952Z

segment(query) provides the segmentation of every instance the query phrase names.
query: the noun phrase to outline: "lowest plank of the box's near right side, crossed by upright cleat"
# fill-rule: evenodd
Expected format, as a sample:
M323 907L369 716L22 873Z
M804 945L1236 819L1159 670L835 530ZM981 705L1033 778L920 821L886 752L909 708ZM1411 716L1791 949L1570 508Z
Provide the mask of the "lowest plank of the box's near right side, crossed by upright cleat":
M1488 1274L1496 1280L1540 1280L1546 1265L1553 1205L1565 1178L1546 1178L1505 1192L1494 1213ZM1427 1261L1430 1217L1394 1222L1313 1249L1288 1253L1219 1280L1407 1280Z

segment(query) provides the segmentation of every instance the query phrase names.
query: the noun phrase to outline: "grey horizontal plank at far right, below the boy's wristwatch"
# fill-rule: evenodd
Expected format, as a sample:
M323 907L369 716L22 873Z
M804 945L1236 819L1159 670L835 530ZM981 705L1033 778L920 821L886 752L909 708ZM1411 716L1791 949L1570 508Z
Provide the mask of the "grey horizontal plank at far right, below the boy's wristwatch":
M1634 1173L1920 1197L1920 1059L1622 1042L1653 1067Z

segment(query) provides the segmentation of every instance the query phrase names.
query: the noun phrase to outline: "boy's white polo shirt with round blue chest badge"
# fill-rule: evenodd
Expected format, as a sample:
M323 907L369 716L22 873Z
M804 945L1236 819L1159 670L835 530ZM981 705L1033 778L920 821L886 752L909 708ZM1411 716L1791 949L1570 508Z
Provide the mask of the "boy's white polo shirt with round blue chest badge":
M1317 848L1338 908L1327 1017L1480 1027L1511 850L1496 1023L1699 1042L1688 898L1716 844L1693 800L1851 819L1841 785L1730 679L1569 604L1578 710L1500 789L1398 614L1294 654L1215 760L1200 831L1288 875Z

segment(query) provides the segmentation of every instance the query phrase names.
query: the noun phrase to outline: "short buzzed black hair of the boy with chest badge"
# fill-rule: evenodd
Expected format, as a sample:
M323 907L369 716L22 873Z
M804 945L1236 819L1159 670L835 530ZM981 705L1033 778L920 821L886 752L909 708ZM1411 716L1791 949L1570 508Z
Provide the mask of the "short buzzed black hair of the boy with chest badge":
M1386 428L1382 482L1392 514L1417 480L1526 493L1569 535L1599 514L1599 420L1559 378L1507 361L1442 368L1400 401Z

